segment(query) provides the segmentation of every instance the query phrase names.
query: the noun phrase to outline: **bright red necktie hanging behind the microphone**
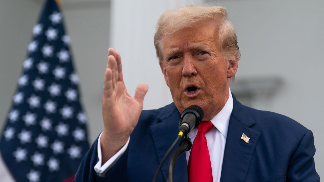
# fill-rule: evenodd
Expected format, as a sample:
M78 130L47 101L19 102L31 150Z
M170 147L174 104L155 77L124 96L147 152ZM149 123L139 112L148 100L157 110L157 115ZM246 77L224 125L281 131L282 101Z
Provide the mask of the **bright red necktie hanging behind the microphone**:
M214 127L210 121L201 122L192 143L188 161L189 182L212 182L213 173L205 134Z

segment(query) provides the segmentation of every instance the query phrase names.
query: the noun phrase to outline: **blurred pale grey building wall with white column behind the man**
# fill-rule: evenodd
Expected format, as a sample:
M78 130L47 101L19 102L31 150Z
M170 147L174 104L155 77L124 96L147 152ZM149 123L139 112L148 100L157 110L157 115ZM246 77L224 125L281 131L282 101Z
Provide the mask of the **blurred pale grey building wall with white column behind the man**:
M131 95L139 83L149 85L144 109L169 104L172 98L155 57L155 23L169 8L206 3L225 6L237 31L242 55L232 92L243 104L284 114L312 130L315 164L323 177L323 0L64 0L62 12L80 77L89 142L103 127L101 94L108 48L121 53ZM0 1L1 130L41 6L41 0Z

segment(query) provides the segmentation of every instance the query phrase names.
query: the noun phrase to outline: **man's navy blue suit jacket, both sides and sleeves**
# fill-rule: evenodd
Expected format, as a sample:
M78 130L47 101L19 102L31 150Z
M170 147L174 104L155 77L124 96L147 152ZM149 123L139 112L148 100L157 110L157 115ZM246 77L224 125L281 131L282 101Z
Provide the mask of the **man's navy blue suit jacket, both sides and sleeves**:
M221 182L319 181L310 130L283 115L243 106L234 95L233 102ZM174 103L143 110L126 152L106 176L100 177L94 171L98 162L97 139L83 158L75 181L152 181L159 162L178 134L179 119ZM242 133L250 138L249 143L240 139ZM157 181L166 181L167 165L168 158ZM177 160L174 181L188 181L185 154Z

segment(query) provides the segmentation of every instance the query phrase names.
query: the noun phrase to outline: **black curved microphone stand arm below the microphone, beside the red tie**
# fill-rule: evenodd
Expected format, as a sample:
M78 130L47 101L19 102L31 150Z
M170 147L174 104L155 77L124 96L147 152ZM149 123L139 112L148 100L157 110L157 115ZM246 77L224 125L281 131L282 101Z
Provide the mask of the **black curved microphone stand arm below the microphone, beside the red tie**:
M180 147L177 148L170 156L168 164L167 182L173 182L174 166L178 157L191 149L192 143L190 138L185 138L180 142Z

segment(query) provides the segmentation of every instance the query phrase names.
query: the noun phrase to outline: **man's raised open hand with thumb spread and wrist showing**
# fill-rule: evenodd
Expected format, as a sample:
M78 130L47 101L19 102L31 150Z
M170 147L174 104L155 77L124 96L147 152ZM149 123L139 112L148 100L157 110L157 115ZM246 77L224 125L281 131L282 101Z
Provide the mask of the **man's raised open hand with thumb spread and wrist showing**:
M121 56L108 50L108 63L102 94L104 130L100 138L102 164L116 154L127 142L143 109L148 85L137 85L131 97L125 87L121 69Z

